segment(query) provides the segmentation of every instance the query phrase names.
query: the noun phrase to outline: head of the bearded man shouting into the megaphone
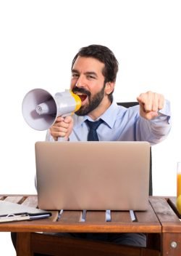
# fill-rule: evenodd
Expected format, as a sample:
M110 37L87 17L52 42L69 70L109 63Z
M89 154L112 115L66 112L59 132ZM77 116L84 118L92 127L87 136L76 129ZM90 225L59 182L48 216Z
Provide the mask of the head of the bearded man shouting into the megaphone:
M105 97L111 103L117 71L117 59L107 47L93 44L77 52L72 60L71 89L81 96L78 115L90 113Z

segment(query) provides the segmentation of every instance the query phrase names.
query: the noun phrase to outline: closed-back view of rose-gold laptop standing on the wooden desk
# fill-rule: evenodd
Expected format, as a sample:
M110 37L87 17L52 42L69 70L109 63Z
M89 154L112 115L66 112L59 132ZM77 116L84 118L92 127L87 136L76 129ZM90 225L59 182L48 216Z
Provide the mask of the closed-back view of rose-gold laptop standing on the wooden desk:
M37 142L35 163L41 209L148 209L147 142Z

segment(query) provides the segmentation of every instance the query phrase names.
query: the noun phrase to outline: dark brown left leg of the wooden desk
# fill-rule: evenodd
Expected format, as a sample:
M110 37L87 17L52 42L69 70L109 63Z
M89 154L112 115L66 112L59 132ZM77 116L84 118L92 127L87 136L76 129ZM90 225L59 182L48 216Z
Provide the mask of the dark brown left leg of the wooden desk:
M17 232L17 256L33 256L30 249L31 233Z

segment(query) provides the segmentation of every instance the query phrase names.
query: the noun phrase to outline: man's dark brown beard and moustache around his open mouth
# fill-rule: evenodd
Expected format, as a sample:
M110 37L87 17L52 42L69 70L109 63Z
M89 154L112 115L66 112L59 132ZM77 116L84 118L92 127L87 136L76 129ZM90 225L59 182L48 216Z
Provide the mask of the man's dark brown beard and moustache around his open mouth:
M101 89L101 91L96 93L96 95L94 95L94 96L91 96L90 92L83 88L76 87L76 88L72 89L72 92L74 92L74 93L81 92L81 93L87 95L88 102L89 102L88 104L81 106L80 109L75 112L76 115L77 116L85 116L85 115L88 115L88 113L93 111L95 108L97 108L98 105L101 103L101 101L104 98L104 88L105 88L105 85Z

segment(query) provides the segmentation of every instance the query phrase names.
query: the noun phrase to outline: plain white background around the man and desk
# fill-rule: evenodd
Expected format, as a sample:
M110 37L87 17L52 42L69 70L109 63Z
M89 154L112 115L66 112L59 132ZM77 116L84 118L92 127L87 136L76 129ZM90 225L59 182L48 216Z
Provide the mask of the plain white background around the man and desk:
M0 193L35 193L34 143L44 140L22 118L25 94L53 95L70 86L70 65L80 47L104 44L119 60L114 97L163 93L172 104L172 132L153 150L153 194L176 193L180 153L181 7L174 0L0 1ZM9 233L1 255L15 255Z

